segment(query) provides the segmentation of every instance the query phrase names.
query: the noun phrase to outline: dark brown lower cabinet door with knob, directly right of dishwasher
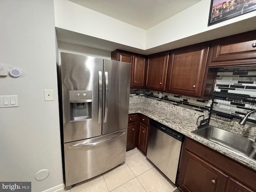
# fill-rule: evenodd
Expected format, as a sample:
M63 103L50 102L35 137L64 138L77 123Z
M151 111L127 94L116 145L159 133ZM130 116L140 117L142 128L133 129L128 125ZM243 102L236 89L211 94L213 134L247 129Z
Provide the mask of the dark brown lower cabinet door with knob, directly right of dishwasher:
M224 192L228 177L185 150L178 184L184 192Z

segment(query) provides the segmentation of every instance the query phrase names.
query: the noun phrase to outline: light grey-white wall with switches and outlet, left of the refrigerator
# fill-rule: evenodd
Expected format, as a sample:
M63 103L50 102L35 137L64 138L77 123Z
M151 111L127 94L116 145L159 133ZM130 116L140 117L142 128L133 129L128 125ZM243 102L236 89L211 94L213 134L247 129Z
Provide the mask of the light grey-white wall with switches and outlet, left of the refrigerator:
M0 65L23 71L0 77L0 95L18 95L20 105L0 108L0 181L32 182L32 192L61 187L53 0L0 0L0 23ZM37 181L42 169L50 174Z

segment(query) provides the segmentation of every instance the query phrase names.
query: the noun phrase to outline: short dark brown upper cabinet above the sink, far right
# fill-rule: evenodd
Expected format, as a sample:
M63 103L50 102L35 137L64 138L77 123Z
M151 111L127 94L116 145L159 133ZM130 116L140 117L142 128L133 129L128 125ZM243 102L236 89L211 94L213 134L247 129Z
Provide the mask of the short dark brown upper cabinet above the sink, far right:
M256 63L256 30L213 40L209 66L242 66Z

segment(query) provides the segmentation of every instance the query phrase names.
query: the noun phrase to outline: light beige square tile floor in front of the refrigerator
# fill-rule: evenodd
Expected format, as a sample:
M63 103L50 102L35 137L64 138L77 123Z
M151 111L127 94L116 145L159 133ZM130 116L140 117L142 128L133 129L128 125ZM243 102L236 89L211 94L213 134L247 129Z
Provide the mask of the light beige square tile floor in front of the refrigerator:
M137 148L126 152L122 166L76 184L66 192L174 192L176 186Z

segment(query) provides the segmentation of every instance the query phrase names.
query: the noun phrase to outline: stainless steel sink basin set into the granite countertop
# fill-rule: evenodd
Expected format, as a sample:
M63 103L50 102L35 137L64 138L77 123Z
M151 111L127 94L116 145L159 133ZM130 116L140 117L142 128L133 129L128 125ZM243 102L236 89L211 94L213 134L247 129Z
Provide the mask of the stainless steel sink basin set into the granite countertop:
M192 131L192 133L256 160L256 142L244 136L214 126L199 128Z

